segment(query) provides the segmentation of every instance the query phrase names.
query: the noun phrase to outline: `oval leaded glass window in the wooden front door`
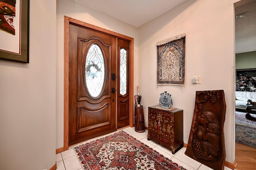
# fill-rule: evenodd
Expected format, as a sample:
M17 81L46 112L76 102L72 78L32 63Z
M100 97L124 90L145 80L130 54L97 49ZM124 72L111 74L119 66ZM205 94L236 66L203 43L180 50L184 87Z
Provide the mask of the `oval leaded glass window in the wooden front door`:
M93 44L86 55L85 80L86 88L92 97L97 97L102 91L105 76L105 66L102 51Z

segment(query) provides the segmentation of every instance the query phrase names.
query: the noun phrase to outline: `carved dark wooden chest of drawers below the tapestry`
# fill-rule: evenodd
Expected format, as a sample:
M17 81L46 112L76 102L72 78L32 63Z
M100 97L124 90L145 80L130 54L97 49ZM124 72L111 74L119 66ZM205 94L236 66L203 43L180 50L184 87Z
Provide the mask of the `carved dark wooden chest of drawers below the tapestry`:
M183 110L148 107L148 140L152 139L176 153L183 147Z

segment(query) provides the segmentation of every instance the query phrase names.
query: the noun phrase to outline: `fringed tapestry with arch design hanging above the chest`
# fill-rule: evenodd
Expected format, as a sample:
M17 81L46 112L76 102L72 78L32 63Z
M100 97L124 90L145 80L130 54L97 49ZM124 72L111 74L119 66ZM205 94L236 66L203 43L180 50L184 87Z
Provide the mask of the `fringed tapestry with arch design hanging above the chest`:
M185 33L159 41L157 46L157 84L184 85Z

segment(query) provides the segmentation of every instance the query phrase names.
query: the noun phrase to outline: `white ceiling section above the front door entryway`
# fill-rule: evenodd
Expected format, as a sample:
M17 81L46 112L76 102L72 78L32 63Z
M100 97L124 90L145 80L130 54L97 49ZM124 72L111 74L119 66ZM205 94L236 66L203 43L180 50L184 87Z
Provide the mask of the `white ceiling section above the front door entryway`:
M186 0L75 0L136 27ZM161 2L161 3L159 3Z

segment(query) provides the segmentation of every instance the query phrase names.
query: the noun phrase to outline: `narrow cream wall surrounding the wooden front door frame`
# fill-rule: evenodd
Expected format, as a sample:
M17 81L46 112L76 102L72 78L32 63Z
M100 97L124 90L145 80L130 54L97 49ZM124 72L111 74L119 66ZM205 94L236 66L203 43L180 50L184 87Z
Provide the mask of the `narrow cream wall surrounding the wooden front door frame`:
M74 0L57 0L57 112L56 149L63 147L64 135L64 16L84 21L134 38L134 84L137 82L138 28L89 8ZM136 91L134 86L134 92Z

